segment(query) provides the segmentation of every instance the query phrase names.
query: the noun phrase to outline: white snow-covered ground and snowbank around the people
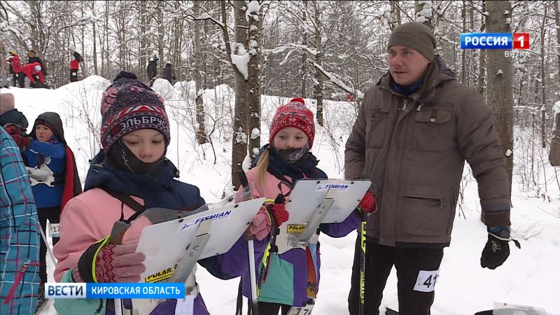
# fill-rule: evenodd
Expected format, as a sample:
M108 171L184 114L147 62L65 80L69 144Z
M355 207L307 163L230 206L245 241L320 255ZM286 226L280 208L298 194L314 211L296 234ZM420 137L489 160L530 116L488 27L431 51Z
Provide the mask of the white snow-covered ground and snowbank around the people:
M207 202L216 202L222 195L230 194L231 121L235 104L232 89L219 86L203 93L209 128L217 121L212 134L214 151L210 144L196 144L193 130L193 83L176 83L171 87L158 80L155 89L167 99L167 113L172 120L172 142L167 157L181 170L181 181L200 188ZM10 88L15 95L16 107L26 114L32 125L38 114L56 111L62 116L66 140L76 154L80 179L84 181L87 160L99 150L99 99L109 81L90 76L77 83L70 83L57 90L31 90ZM1 89L1 92L8 92ZM262 97L262 144L268 139L269 120L280 104L288 101L282 97ZM314 101L306 99L314 111ZM325 127L316 131L313 152L318 156L319 167L331 178L342 178L344 144L353 123L353 107L347 102L326 102ZM177 123L179 122L179 123ZM90 127L87 127L90 126ZM524 144L530 143L521 130L516 130ZM517 141L517 140L516 140ZM537 146L538 147L538 146ZM491 309L494 302L541 307L549 313L560 314L560 191L549 167L546 153L538 151L535 182L550 197L536 197L535 186L524 188L520 182L527 173L524 159L528 146L516 143L515 179L512 188L512 229L521 241L521 250L512 246L510 258L496 270L482 269L479 258L486 242L484 225L479 221L480 207L477 186L465 168L466 183L462 212L458 209L451 246L444 251L440 279L437 283L432 314L474 314ZM537 149L538 150L538 149ZM544 160L544 162L543 162ZM547 176L547 177L545 177ZM322 269L321 287L314 314L348 314L347 295L350 288L353 244L356 233L341 239L321 236ZM48 266L52 281L53 266ZM238 279L223 281L208 274L200 267L197 280L211 314L234 314ZM398 308L396 278L393 270L388 280L383 305ZM41 314L56 314L52 306Z

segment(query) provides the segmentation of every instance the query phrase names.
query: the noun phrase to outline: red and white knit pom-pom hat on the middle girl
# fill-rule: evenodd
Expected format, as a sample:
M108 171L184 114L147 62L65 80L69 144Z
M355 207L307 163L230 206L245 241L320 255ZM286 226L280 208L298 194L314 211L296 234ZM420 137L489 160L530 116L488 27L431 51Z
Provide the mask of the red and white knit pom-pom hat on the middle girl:
M269 142L272 143L276 134L286 127L295 127L304 132L309 138L309 148L313 146L315 137L313 113L305 106L302 98L291 99L288 104L282 105L276 110L270 124Z

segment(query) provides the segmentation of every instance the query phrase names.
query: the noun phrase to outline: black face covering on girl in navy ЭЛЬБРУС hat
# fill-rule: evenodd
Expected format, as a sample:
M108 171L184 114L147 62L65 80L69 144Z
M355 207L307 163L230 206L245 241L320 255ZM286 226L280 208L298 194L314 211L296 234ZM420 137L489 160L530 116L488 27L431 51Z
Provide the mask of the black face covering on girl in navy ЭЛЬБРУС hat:
M165 152L167 152L167 148ZM121 171L155 176L163 167L165 152L162 157L155 162L142 162L130 151L122 139L118 139L109 149L109 154L106 156L105 160L109 162L109 165Z

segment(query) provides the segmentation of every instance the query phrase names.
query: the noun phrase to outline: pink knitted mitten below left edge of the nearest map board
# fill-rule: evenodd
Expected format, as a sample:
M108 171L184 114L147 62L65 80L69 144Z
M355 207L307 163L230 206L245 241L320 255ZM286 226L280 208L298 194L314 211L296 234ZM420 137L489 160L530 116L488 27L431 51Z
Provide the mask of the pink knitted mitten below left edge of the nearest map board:
M146 270L143 253L134 253L138 239L122 245L104 246L95 260L97 282L138 282Z

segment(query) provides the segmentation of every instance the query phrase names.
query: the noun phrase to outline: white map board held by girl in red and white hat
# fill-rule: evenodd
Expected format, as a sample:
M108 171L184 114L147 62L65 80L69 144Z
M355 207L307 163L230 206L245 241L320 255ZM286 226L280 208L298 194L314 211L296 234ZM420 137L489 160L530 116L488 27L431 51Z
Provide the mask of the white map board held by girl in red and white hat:
M339 223L358 207L371 181L343 179L300 179L290 193L286 211L290 213L288 224L302 225L321 205L327 193L335 200L322 223Z

